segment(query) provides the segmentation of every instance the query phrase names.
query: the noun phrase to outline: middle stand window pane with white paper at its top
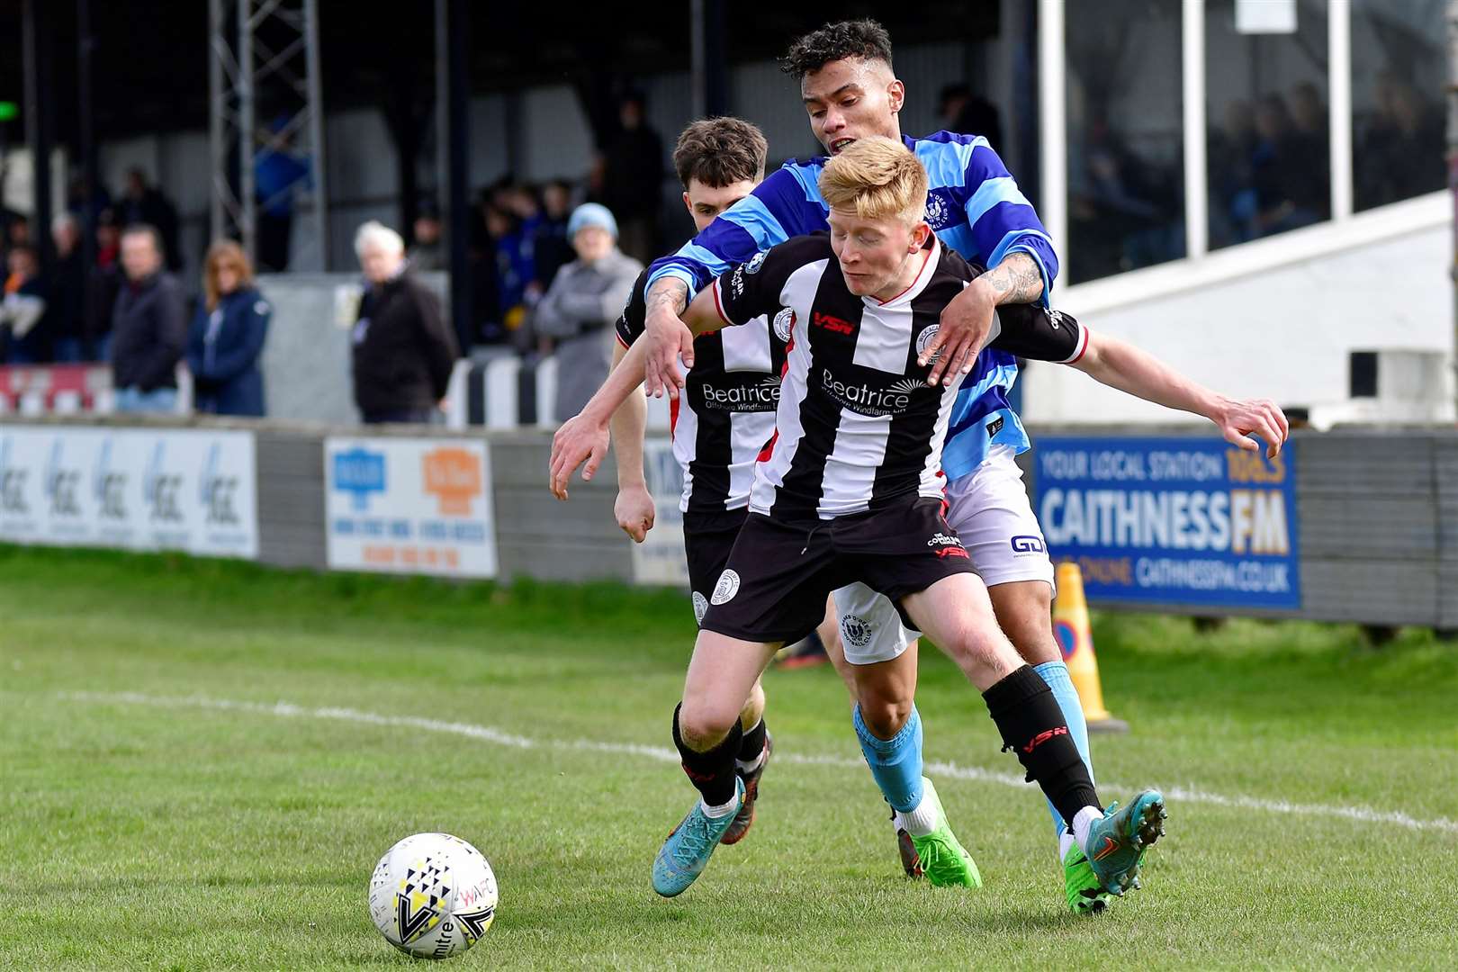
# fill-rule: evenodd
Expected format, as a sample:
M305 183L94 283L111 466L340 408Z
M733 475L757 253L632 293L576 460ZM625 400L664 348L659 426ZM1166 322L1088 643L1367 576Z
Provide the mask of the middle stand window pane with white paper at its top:
M1209 0L1204 16L1210 249L1331 219L1327 4Z

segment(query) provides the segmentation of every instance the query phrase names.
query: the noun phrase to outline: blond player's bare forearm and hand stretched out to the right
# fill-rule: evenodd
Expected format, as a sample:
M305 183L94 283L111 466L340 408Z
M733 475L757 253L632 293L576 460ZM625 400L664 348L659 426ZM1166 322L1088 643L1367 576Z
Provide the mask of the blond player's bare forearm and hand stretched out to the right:
M1255 433L1266 440L1267 458L1280 452L1290 426L1284 412L1268 399L1235 401L1204 388L1174 370L1147 351L1127 341L1089 331L1088 350L1072 366L1110 388L1145 401L1204 415L1219 427L1225 440L1241 449L1257 452L1260 446L1247 439Z

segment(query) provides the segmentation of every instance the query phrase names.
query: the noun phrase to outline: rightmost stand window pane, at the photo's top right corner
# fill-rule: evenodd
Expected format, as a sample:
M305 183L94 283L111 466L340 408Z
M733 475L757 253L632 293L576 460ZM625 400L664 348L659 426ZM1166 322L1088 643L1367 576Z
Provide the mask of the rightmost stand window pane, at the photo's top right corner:
M1433 192L1443 163L1443 0L1352 0L1357 210Z

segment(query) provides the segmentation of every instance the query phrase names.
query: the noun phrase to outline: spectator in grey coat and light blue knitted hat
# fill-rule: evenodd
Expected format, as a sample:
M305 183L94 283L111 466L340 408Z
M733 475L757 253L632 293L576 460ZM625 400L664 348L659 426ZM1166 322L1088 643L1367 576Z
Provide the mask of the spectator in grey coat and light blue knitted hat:
M618 249L618 224L604 205L573 210L567 239L577 259L557 271L532 315L538 337L557 345L557 421L580 412L607 380L611 325L643 273L643 264Z

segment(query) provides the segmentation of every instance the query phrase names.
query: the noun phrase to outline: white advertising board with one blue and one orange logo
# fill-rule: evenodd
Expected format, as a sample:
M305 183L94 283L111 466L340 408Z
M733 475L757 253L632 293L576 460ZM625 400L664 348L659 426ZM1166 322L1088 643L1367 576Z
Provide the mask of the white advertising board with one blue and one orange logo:
M330 567L496 576L484 442L330 437L324 478Z

